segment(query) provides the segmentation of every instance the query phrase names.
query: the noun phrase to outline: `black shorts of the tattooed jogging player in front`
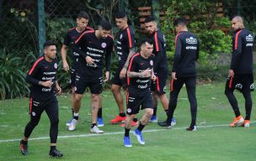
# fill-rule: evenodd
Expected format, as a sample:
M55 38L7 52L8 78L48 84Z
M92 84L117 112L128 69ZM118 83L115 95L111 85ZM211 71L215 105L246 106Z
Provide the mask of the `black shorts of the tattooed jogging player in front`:
M153 108L153 96L151 91L143 93L133 93L129 91L126 96L126 105L127 115L137 114L140 112L140 109Z

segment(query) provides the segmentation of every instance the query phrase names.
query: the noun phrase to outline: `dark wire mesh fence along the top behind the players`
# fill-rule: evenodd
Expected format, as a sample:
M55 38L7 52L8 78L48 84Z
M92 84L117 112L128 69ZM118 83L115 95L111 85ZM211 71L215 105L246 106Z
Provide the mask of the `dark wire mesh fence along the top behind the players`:
M39 53L39 25L38 2L40 0L2 0L0 1L0 49L6 49L8 53L32 51ZM120 5L125 2L127 11L131 13L136 28L137 7L150 5L152 1L121 0L95 0L88 3L86 0L44 0L45 8L45 39L54 39L61 45L63 37L68 29L74 26L74 18L80 10L88 11L90 15L90 25L98 23L101 17L112 18ZM161 1L160 1L161 2ZM166 2L166 1L165 1ZM167 1L168 2L168 1ZM246 26L256 33L256 1L250 0L226 0L222 1L224 13L232 17L234 14L240 14L245 18ZM141 5L141 6L140 6ZM160 3L161 7L161 3ZM114 23L114 21L112 21ZM60 47L60 46L58 46Z

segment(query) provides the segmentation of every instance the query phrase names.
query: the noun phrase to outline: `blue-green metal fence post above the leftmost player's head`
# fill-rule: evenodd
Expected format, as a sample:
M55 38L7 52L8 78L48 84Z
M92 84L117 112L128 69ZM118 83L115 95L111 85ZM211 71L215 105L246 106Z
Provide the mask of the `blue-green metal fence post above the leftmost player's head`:
M45 42L45 0L38 0L38 42L39 53L43 55L43 44Z

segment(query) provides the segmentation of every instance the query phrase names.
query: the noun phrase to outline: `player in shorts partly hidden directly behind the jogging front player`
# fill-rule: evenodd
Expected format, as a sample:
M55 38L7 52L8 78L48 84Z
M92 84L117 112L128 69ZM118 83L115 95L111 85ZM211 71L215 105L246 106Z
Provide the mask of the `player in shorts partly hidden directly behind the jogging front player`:
M166 43L163 33L160 29L157 29L157 21L153 16L149 16L145 19L145 27L149 38L152 39L155 55L154 60L154 72L157 76L157 81L154 81L151 86L153 98L154 98L154 113L150 122L157 122L157 97L162 102L164 111L168 112L168 98L166 96L166 81L168 79L168 63L166 55ZM176 124L173 117L173 126Z

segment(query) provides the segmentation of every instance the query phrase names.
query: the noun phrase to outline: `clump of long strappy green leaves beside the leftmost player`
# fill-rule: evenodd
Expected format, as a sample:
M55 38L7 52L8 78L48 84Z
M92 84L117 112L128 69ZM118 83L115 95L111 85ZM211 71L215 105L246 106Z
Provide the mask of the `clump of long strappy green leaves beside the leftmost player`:
M29 86L25 81L25 66L31 58L35 58L33 53L29 53L23 60L16 54L7 55L5 49L0 51L0 99L29 94Z

